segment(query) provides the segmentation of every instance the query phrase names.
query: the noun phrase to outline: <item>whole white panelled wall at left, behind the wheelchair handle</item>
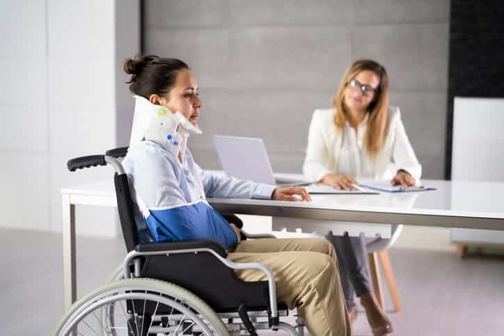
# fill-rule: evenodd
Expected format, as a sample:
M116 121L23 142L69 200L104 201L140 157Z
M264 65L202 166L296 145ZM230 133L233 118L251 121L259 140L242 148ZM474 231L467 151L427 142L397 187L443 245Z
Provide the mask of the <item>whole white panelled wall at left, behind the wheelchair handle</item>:
M116 146L116 90L127 90L116 49L139 51L139 1L2 2L0 227L59 232L61 187L111 178L102 167L70 173L66 161ZM116 17L130 17L130 31L116 31ZM113 209L77 209L78 233L111 236L110 221Z

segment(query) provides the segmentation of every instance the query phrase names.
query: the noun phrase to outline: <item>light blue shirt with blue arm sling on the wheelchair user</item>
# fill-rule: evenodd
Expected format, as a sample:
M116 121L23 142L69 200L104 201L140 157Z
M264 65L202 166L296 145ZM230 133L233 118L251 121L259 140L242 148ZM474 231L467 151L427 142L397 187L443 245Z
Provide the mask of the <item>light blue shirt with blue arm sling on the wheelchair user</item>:
M189 150L183 161L152 141L129 147L123 166L136 202L140 241L211 238L235 246L235 231L206 198L271 199L276 187L209 173Z

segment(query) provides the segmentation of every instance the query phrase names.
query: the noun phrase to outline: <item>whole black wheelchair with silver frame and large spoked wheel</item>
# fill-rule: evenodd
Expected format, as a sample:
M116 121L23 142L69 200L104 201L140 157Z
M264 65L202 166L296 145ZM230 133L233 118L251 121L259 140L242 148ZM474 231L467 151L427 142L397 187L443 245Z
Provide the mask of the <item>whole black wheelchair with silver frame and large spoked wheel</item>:
M226 248L212 239L139 243L134 203L120 163L126 152L127 147L120 147L68 161L70 171L107 165L116 170L114 184L127 255L113 281L70 307L55 335L233 336L258 335L258 330L304 335L299 317L294 326L280 321L289 310L276 301L274 274L267 266L231 262L226 259ZM245 239L275 238L242 234ZM234 272L243 269L259 269L268 280L244 282Z

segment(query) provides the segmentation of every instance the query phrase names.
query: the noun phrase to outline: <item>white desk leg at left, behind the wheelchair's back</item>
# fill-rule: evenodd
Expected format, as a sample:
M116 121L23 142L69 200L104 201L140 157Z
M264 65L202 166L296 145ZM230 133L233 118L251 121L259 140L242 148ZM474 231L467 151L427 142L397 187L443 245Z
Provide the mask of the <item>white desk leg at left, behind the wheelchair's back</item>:
M75 272L75 205L63 195L63 304L65 312L77 300Z

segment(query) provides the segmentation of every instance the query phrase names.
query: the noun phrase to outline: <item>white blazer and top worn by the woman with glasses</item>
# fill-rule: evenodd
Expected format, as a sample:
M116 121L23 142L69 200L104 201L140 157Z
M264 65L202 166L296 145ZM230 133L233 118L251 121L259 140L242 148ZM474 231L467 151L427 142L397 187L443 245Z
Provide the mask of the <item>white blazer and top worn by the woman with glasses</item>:
M335 109L317 109L313 112L303 165L306 179L319 181L329 173L391 179L399 169L404 169L415 179L420 179L422 167L409 143L399 108L389 106L384 144L374 158L368 157L363 141L368 117L366 116L357 131L348 123L338 131L333 121L335 112Z

